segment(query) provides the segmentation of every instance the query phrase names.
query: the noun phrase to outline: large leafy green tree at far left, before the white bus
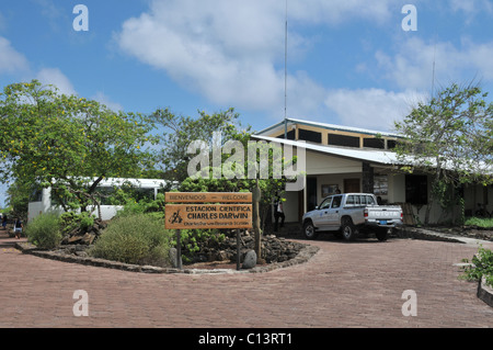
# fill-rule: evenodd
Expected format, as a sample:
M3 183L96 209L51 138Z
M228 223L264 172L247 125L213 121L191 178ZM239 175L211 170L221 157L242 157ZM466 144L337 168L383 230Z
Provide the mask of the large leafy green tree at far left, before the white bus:
M152 163L148 118L36 80L4 88L0 117L0 179L51 187L65 210L99 206L103 179L138 178Z

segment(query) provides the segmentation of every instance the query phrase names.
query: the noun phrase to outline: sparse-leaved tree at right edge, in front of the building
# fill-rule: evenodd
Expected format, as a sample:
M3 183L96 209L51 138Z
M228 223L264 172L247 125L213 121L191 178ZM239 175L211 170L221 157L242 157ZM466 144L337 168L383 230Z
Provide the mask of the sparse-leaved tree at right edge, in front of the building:
M427 103L419 103L395 128L405 139L395 148L405 171L433 177L425 224L438 202L460 201L457 189L467 183L492 183L493 103L480 87L454 83Z

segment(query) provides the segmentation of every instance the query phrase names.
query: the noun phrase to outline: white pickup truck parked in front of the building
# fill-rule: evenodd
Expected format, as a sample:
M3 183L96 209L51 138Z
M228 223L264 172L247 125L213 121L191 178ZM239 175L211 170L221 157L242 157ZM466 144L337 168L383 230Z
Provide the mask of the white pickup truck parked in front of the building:
M399 205L378 205L374 194L344 193L325 197L314 211L303 215L302 225L308 239L314 239L319 232L334 232L353 240L358 232L372 232L378 240L387 240L402 221Z

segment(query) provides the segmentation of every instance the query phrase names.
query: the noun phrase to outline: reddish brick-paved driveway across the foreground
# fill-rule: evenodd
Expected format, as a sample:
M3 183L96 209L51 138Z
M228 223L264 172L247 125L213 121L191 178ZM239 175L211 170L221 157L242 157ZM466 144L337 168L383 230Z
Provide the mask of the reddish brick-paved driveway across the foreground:
M409 239L310 242L308 262L266 273L146 274L23 255L0 233L0 327L492 327L454 263L472 246ZM488 246L486 246L488 247ZM492 248L491 246L489 248ZM76 317L76 290L89 316ZM405 290L417 316L404 317Z

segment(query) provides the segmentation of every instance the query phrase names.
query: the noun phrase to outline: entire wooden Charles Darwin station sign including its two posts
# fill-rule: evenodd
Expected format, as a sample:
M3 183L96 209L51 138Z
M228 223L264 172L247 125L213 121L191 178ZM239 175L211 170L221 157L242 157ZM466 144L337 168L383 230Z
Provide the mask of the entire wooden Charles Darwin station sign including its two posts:
M165 205L164 227L176 229L176 266L180 270L181 229L184 228L237 229L237 270L240 270L239 229L252 227L251 192L167 192L164 197L167 203L173 203Z

